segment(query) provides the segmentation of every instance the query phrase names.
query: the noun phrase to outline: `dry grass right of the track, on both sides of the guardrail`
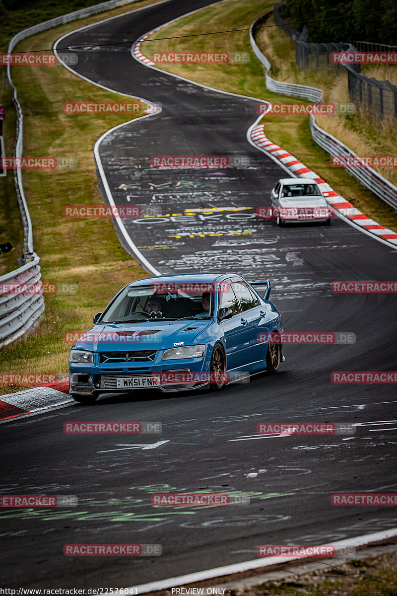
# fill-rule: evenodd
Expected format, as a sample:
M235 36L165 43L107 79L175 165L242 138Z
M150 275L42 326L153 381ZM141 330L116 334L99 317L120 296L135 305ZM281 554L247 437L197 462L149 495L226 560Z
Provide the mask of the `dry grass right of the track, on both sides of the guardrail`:
M149 36L140 46L140 49L148 57L151 56L152 52L159 51L250 52L251 61L244 65L161 63L157 67L161 67L166 72L195 80L198 83L212 86L222 91L249 95L274 102L293 103L299 101L296 98L288 98L286 95L274 94L265 88L264 69L252 52L248 31L245 29L251 26L254 20L270 11L273 8L273 4L274 2L269 0L265 3L251 0L229 0L228 2L221 2L218 5L205 8L198 13L183 17L175 23L164 27ZM271 24L271 21L269 21L269 24ZM215 33L233 29L238 29L238 31L224 34ZM346 98L346 93L343 91L343 89L347 89L347 77L346 73L342 72L342 69L340 69L340 73L333 70L330 72L325 72L324 70L308 73L305 71L296 72L295 43L283 32L280 32L277 27L263 29L262 32L271 32L267 33L268 45L264 46L264 50L262 51L264 51L271 63L274 64L274 76L276 78L289 80L292 78L295 70L295 76L299 77L299 82L307 85L324 86L329 94L328 100L349 101ZM200 36L200 34L204 33L206 35ZM213 35L207 35L208 33L213 33ZM194 37L189 37L189 35L194 35ZM169 39L173 37L176 39ZM260 40L259 42L262 44ZM270 49L271 51L269 51ZM276 76L279 74L281 75L280 77ZM343 77L346 78L346 81L342 80ZM290 82L298 82L298 80L291 80ZM339 90L338 95L336 95L337 90ZM343 95L343 93L345 94ZM343 98L340 99L339 97ZM255 113L253 113L253 122L255 117ZM323 116L322 118L322 120L318 119L317 122L320 126L324 126L324 128L326 128L326 125L324 125L323 120L326 121L327 126L330 126L330 123L335 123L337 127L340 127L340 121L344 120L345 126L349 126L349 129L352 131L351 136L346 140L341 138L342 135L339 134L339 128L336 130L335 136L341 138L346 144L353 145L352 149L355 150L355 146L351 141L353 138L360 136L360 133L355 131L355 128L360 126L360 122L355 120L355 116ZM265 134L271 141L279 144L280 147L292 153L307 167L317 172L321 178L326 180L337 192L364 212L365 215L397 232L397 213L392 207L389 207L380 198L376 197L376 195L362 187L355 178L352 178L344 170L330 166L329 154L318 147L312 139L308 116L298 114L277 116L276 114L269 114L264 117L262 122L265 124ZM370 140L368 140L370 150L368 149L364 154L396 153L395 147L397 142L395 142L395 131L390 132L389 137L382 136L382 139L378 139L379 129L376 128L376 123L372 122L368 135L368 139L373 139L373 144L370 144ZM375 140L378 143L377 145L375 145ZM363 147L361 145L361 148ZM357 151L357 153L360 153L360 151ZM385 176L385 169L381 173Z

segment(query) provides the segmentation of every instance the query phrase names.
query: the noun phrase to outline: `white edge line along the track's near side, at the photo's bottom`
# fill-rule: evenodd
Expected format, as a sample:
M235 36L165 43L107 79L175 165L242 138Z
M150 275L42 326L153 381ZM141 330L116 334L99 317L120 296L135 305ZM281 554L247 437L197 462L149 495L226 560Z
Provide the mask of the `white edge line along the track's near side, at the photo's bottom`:
M390 530L375 532L373 534L365 534L364 536L356 536L355 538L340 540L339 542L333 542L333 545L335 546L336 550L338 550L339 548L358 547L368 544L368 542L376 542L386 538L394 538L395 536L397 536L396 527L391 528ZM224 567L215 567L214 569L206 569L196 573L180 575L175 578L160 579L155 582L142 583L140 585L131 586L130 588L126 589L130 590L131 588L134 588L138 594L145 594L145 592L155 592L156 590L173 588L174 586L180 586L183 584L202 582L210 578L219 578L223 575L232 575L233 573L240 573L249 569L261 569L262 567L287 563L294 560L296 561L299 559L293 559L291 557L266 557L264 560L262 557L258 557L251 561L244 561L243 563L235 563L232 565L226 565Z

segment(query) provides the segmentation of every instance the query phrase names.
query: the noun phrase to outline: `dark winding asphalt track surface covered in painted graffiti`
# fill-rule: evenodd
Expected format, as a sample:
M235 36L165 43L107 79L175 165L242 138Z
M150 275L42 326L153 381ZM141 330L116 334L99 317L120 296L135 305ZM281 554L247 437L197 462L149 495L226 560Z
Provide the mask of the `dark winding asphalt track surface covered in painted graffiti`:
M147 8L74 33L67 46L87 44L88 39L91 45L135 40L205 4L168 2ZM115 156L145 156L147 164L148 157L161 151L208 155L211 149L214 154L249 156L253 167L224 170L217 178L189 172L190 180L208 184L205 192L212 194L204 196L204 187L198 187L186 203L177 198L173 211L176 187L167 187L170 197L161 193L166 213L180 213L181 206L268 204L268 191L284 174L245 140L255 118L252 100L218 97L180 83L146 69L127 50L82 54L78 67L84 76L163 105L161 114L118 129L102 148L114 190L133 179L133 170L120 170L120 162L114 167ZM220 122L216 127L215 117ZM175 173L172 177L180 180ZM136 179L135 204L149 203L154 194L149 174ZM123 203L123 197L115 194L115 202ZM208 226L200 221L197 228ZM329 286L335 280L392 280L396 250L339 220L329 228L282 229L274 222L253 221L255 231L248 240L243 235L170 238L177 225L157 232L130 223L138 246L170 243L145 252L162 272L195 271L202 258L210 271L271 277L272 297L286 331L352 332L357 342L287 346L279 374L262 374L218 393L109 395L91 407L73 404L2 424L3 494L79 499L70 508L2 509L2 586L131 586L251 560L259 544L332 544L396 526L393 507L330 504L335 492L395 492L395 385L337 385L330 374L395 369L396 300L393 294L332 294ZM242 229L250 225L244 222ZM67 421L160 421L163 430L136 437L69 435L62 430ZM264 421L359 426L346 436L260 437L256 428ZM205 491L245 493L251 502L222 508L151 504L152 493ZM63 546L75 543L161 544L162 555L65 557Z

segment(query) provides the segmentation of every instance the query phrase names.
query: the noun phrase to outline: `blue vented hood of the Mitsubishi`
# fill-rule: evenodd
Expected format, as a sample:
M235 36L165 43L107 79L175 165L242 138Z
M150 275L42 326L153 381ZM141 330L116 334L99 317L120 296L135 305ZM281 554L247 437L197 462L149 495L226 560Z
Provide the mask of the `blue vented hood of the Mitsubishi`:
M211 325L208 321L148 321L95 325L80 336L75 348L91 352L116 350L165 350L189 346L198 333Z

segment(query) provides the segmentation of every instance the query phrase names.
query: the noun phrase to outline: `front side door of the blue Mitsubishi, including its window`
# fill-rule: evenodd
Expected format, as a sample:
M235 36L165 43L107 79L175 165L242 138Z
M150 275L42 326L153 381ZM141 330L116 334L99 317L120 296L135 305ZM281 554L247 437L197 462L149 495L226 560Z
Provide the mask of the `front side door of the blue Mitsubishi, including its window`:
M232 289L230 280L227 280L227 283L223 282L222 287L223 289L220 290L219 308L230 308L233 312L232 318L223 319L221 322L226 339L224 347L226 350L227 370L231 371L242 365L242 353L244 352L242 334L245 336L246 330L241 322L242 313L240 312L240 305Z

